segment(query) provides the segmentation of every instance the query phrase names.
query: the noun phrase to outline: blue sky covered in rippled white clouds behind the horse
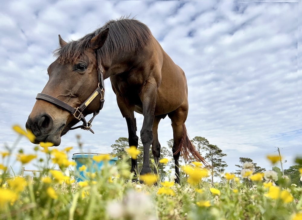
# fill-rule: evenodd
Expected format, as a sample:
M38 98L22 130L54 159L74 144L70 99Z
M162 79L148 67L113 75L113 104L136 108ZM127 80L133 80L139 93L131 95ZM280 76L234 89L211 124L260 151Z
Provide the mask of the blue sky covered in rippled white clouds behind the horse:
M299 9L300 7L300 9ZM12 146L11 126L25 122L48 80L58 34L76 40L122 15L136 16L185 71L189 90L188 134L206 137L234 171L239 157L270 169L267 154L279 147L284 169L302 153L301 2L6 1L0 9L0 150ZM301 45L301 44L300 44ZM87 152L109 153L127 137L110 80L93 130L74 130L59 149L80 134ZM143 117L136 114L138 130ZM140 132L138 131L138 135ZM172 138L169 118L159 141ZM26 153L34 144L22 139ZM16 152L16 150L15 150ZM11 161L15 169L18 163ZM280 167L280 164L278 164ZM28 165L30 168L34 165Z

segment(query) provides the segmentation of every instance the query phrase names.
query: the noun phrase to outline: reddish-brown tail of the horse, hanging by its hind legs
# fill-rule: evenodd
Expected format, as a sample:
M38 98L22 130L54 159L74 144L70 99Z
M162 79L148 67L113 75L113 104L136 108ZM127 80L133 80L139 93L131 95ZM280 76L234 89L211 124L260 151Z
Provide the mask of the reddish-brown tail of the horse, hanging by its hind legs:
M187 161L197 160L201 161L206 167L210 166L209 163L204 160L204 158L199 154L199 152L195 149L194 145L191 143L187 134L185 124L182 125L182 140L180 141L180 144L174 154L178 154L179 152L182 154L182 157Z

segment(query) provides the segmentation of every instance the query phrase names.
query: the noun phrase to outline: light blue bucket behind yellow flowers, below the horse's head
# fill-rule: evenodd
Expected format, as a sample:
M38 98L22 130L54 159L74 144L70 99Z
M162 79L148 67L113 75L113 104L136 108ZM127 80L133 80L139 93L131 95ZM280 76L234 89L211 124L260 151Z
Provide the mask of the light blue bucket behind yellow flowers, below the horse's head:
M105 154L97 154L97 153L76 153L72 155L72 160L75 160L75 179L77 182L85 181L89 179L88 176L85 175L86 172L94 173L101 170L104 162L108 163L109 165L114 166L115 162L117 161L117 157L110 157L108 161L100 161L96 162L92 159L93 156L98 155L105 155ZM86 171L80 171L79 168L85 165L87 167Z

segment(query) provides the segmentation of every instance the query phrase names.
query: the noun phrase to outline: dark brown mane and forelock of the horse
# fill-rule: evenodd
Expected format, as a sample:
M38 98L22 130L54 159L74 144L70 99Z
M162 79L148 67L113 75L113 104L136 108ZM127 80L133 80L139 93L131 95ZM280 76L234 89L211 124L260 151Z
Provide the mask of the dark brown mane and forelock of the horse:
M140 50L151 36L149 28L135 19L120 18L110 20L103 27L86 34L79 40L70 41L53 53L60 63L75 62L89 48L90 40L109 27L107 40L97 53L101 60L111 59L121 52L136 52Z

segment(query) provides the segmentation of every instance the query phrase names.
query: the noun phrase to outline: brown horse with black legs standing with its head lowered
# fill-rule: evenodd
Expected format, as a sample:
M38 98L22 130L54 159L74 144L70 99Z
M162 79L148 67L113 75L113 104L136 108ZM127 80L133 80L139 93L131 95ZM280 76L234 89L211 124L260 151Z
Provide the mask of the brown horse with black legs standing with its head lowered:
M165 53L145 24L134 19L109 21L69 43L59 35L59 44L55 51L57 59L47 69L49 80L37 95L26 123L26 128L36 136L35 143L49 141L58 146L61 136L79 120L83 125L76 128L92 131L92 119L104 102L103 79L110 77L118 107L127 122L130 146L138 145L134 111L144 116L140 131L143 143L140 174L151 172L151 144L158 164L157 128L160 119L167 115L173 128L175 181L179 183L180 153L184 158L194 157L206 164L191 144L185 128L188 115L185 73ZM92 113L92 119L86 122L85 116ZM132 159L131 172L136 171L137 160Z

